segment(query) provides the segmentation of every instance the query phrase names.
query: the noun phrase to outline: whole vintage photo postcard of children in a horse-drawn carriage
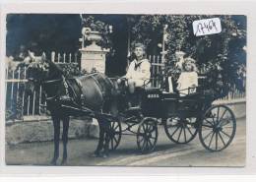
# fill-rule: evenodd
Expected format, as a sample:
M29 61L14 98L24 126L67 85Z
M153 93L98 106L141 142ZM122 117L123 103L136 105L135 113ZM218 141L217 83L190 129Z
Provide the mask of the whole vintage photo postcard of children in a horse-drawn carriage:
M5 21L6 165L245 165L246 15Z

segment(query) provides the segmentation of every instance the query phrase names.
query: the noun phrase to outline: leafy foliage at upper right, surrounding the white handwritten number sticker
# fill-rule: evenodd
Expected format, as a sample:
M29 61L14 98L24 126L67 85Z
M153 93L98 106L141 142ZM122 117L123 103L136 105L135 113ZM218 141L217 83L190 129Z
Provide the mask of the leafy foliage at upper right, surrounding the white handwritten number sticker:
M192 23L197 20L219 17L222 32L195 36ZM246 66L246 17L245 16L205 16L205 15L142 15L131 21L133 40L150 45L162 43L165 29L165 59L173 65L175 51L182 50L186 56L197 60L201 72L208 74L209 82L217 83L215 75L221 73L224 86L235 86L244 90ZM158 43L157 43L158 44ZM156 43L155 43L156 45Z

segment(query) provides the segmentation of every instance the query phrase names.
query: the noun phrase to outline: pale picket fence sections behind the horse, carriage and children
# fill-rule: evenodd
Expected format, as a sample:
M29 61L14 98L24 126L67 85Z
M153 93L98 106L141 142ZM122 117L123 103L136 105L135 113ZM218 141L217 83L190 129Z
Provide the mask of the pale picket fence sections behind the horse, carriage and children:
M152 64L152 76L160 75L164 66L161 63L160 56L148 56L148 59ZM51 53L51 60L56 64L79 64L77 54L66 54L66 53ZM32 96L27 95L24 91L25 83L27 80L27 67L19 67L18 70L10 70L6 68L6 111L14 112L17 114L19 110L20 116L35 116L44 115L46 112L46 102L44 94L39 88L38 91L34 91ZM153 87L160 87L161 83L156 79L153 82ZM230 91L224 98L220 100L229 101L234 99L245 99L245 92L238 90Z

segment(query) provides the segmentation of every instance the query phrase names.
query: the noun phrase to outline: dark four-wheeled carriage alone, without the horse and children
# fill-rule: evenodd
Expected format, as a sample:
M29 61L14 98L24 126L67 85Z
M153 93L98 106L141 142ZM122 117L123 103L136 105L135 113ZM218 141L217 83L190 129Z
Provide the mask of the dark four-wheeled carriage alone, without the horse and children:
M232 111L222 104L212 105L213 91L202 86L186 96L152 85L136 93L140 106L125 110L119 114L120 119L111 121L111 150L118 147L125 134L137 137L140 152L152 152L158 141L158 125L163 125L167 137L176 144L187 144L199 133L200 142L211 152L224 150L235 135Z

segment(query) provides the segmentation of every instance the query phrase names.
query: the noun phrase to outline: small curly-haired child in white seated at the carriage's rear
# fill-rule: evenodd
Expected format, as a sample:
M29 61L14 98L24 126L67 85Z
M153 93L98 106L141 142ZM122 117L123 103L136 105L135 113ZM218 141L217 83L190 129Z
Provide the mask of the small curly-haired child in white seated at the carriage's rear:
M195 60L185 58L182 64L182 72L177 81L177 90L181 96L193 93L198 87L198 75Z

